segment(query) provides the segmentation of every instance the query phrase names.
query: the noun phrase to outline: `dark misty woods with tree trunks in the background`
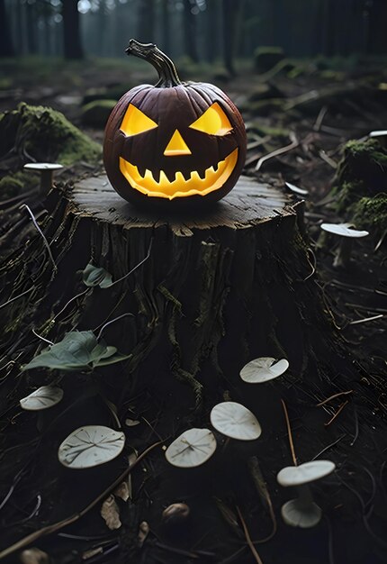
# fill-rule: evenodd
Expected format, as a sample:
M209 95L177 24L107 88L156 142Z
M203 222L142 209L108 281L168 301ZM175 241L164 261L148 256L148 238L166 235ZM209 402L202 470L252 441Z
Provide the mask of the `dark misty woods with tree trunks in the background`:
M387 52L386 0L0 0L0 56L121 56L130 37L194 62Z

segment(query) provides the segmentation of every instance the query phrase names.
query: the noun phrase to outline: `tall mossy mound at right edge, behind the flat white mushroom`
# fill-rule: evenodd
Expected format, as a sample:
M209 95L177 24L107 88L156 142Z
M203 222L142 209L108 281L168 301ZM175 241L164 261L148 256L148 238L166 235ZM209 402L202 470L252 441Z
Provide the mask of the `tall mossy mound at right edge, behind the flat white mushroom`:
M363 197L387 191L387 149L380 141L348 141L333 181L338 212L347 211Z

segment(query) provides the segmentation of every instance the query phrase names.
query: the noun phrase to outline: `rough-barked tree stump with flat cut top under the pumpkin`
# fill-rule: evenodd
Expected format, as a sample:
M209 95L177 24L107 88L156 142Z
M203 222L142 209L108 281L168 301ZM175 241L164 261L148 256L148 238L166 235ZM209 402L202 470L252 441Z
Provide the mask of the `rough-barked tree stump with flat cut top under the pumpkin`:
M167 216L134 208L103 176L53 190L46 207L41 229L58 272L38 233L3 268L2 303L27 292L3 310L4 332L10 340L16 332L23 350L18 367L41 346L32 328L58 341L120 318L104 338L130 355L121 378L131 387L151 378L161 394L180 379L194 392L187 405L202 405L205 387L215 394L238 387L239 370L258 356L289 359L300 381L306 371L308 378L324 372L330 328L302 234L302 203L278 188L241 177L206 214ZM118 280L149 249L112 288L82 283L87 263Z

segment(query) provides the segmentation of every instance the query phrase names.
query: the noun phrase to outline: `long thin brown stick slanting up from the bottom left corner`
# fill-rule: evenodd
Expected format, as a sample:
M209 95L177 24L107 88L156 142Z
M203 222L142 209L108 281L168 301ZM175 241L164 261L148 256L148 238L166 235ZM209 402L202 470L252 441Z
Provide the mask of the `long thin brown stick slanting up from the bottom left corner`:
M137 466L137 464L142 459L144 459L147 456L148 452L150 452L150 450L153 450L155 447L157 447L159 444L161 444L161 442L162 441L157 441L154 444L150 445L150 447L148 447L148 449L144 450L139 455L139 458L136 459L129 468L126 468L126 470L124 472L122 472L122 474L118 478L116 478L109 487L107 487L105 490L103 490L102 494L95 497L95 499L89 505L86 505L84 507L84 509L82 509L81 511L79 511L76 514L72 514L69 517L62 519L62 521L58 521L57 523L52 523L50 525L47 525L47 527L43 527L39 531L31 532L31 534L28 534L26 537L24 537L20 541L14 542L14 544L12 544L8 548L6 548L6 549L4 549L0 552L0 559L4 559L6 556L13 554L16 550L23 549L25 546L28 546L29 544L31 544L31 542L34 542L34 541L37 541L38 539L40 539L40 537L43 537L47 534L50 534L51 532L57 532L60 529L63 529L63 527L66 527L67 525L69 525L71 523L76 523L76 521L78 521L81 517L83 517L86 513L88 513L90 511L90 509L93 509L93 507L95 505L97 505L101 500L103 500L104 497L108 496L111 493L111 491L114 489L114 487L119 486L119 484L121 484L121 481L124 480L130 474L131 470L135 466Z

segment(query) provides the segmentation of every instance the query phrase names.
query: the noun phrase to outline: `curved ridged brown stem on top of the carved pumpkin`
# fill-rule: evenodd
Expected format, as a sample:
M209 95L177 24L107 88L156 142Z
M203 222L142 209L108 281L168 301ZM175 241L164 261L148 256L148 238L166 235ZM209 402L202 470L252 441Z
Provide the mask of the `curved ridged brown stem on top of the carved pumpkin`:
M182 84L172 60L166 57L166 54L159 50L154 43L139 43L139 41L131 39L125 53L139 57L139 59L145 59L156 68L159 77L157 85L155 85L157 88L168 88Z

